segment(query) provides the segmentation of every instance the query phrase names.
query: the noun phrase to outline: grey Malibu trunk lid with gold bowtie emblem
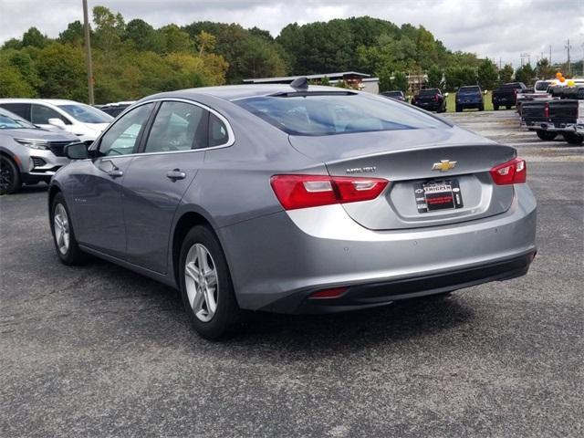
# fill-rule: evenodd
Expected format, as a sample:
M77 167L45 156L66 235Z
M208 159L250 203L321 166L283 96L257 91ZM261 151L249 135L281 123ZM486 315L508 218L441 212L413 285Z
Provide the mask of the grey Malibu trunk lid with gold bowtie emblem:
M331 176L391 182L374 200L343 204L353 220L372 230L460 223L504 213L513 202L513 186L495 185L489 171L512 160L515 149L466 130L290 136L290 142L297 151L325 162ZM445 199L449 187L452 203L444 204L453 207L434 203L435 198Z

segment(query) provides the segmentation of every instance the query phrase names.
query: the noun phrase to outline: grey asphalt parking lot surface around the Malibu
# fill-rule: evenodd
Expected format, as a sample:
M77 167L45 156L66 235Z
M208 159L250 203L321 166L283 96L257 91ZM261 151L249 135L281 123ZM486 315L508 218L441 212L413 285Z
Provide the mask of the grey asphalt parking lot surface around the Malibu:
M0 436L582 436L584 147L447 115L527 158L526 277L198 338L180 297L61 265L44 187L0 198Z

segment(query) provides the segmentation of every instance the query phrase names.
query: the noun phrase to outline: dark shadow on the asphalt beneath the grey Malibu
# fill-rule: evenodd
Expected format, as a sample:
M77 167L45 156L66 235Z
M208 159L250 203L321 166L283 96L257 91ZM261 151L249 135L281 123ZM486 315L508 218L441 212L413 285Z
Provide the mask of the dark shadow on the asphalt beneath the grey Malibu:
M201 339L191 329L180 294L171 287L165 287L149 278L99 259L93 259L88 267L92 271L93 280L96 280L96 276L106 276L110 279L115 278L117 284L131 285L120 287L115 296L110 296L111 291L104 290L94 298L101 301L104 307L109 306L108 301L120 298L141 301L140 307L145 310L141 318L152 320L141 321L140 326L143 323L144 327L149 329L141 331L141 328L135 327L135 330L131 330L134 335L162 341L167 345L169 342L182 344L182 348L187 349L189 344L193 349L200 349L204 344L203 349L208 352L215 348L222 350L261 346L264 350L276 349L280 352L282 349L290 353L318 350L322 354L326 354L327 351L330 354L339 354L339 351L345 348L351 350L368 348L375 344L388 344L452 330L474 318L473 308L465 306L464 299L457 297L456 292L448 297L415 298L379 308L338 314L282 315L247 312L245 328L233 338L216 343ZM120 308L120 312L123 311ZM160 311L165 313L164 321L158 320ZM125 319L124 325L131 324L130 319ZM172 327L162 327L169 322ZM151 329L152 324L157 326L155 330ZM181 334L172 336L172 332L177 334L177 329Z

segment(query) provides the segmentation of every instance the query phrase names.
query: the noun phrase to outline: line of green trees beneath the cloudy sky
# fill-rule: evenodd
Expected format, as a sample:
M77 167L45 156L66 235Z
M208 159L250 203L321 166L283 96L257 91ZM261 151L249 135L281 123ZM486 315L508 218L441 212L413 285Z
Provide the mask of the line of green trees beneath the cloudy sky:
M407 88L406 73L428 86L493 89L515 74L533 83L542 69L498 70L488 59L451 51L423 26L396 26L369 16L290 24L273 37L258 27L194 22L154 28L93 8L91 43L98 103L140 99L172 89L241 83L244 78L357 70L380 78L381 91ZM87 100L83 26L57 38L31 27L0 48L0 97ZM531 68L531 70L529 70ZM522 76L523 75L523 76Z

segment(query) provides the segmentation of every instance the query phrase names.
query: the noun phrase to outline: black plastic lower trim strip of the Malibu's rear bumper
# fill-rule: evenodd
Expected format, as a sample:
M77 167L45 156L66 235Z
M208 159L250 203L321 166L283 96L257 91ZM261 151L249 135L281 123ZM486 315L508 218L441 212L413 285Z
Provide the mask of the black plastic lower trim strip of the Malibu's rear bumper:
M440 274L355 285L348 287L341 296L335 298L311 298L310 294L313 291L298 292L261 310L280 313L335 313L383 306L401 299L441 294L491 281L525 276L536 253L537 251L533 250L508 260Z

